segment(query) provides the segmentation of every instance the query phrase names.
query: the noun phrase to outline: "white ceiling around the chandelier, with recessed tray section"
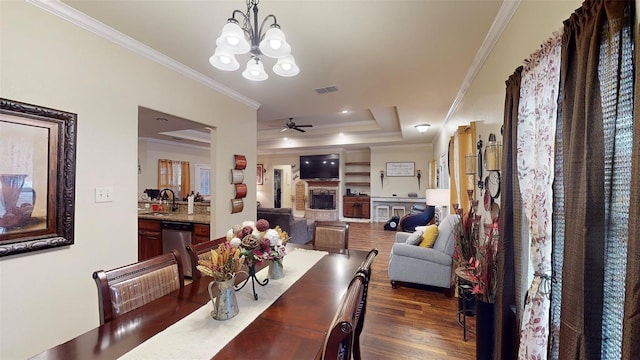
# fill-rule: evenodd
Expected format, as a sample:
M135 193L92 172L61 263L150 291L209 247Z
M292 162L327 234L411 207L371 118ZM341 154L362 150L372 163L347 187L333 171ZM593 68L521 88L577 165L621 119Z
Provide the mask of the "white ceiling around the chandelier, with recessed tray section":
M242 0L65 0L54 6L67 8L76 21L95 19L116 30L105 27L103 36L123 33L135 40L127 42L130 47L155 49L159 52L155 57L165 57L174 69L195 73L208 85L259 106L258 153L264 154L291 148L433 142L518 4L264 0L259 3L259 21L276 16L300 74L280 77L271 70L275 60L266 58L269 79L263 82L242 77L248 55L237 56L241 68L235 72L220 71L208 62L227 18L234 9L246 9ZM328 86L338 91L322 95L314 91ZM281 132L289 117L313 127L306 133ZM432 125L423 135L414 128L421 123ZM141 137L161 137L155 133L185 126L203 128L169 114L140 111ZM283 141L285 136L289 141Z

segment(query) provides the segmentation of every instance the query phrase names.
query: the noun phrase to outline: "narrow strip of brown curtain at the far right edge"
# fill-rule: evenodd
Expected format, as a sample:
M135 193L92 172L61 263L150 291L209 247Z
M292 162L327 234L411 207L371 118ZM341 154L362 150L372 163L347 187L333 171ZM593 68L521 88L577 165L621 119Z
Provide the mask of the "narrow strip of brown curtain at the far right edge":
M636 39L638 37L636 36ZM636 44L635 60L640 59ZM635 68L635 100L633 116L633 150L631 163L631 196L629 209L629 242L627 245L627 279L622 323L622 359L637 359L640 354L640 71Z

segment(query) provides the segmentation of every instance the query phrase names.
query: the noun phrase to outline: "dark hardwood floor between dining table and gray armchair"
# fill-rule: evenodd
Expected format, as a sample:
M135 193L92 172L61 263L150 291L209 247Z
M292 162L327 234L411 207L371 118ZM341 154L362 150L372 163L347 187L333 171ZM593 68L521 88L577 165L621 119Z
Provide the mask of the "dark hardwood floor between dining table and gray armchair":
M379 254L372 265L367 313L360 338L362 358L372 359L474 359L475 335L462 339L456 311L458 299L437 288L392 289L387 267L395 231L382 223L350 222L349 248ZM471 329L475 321L470 320Z

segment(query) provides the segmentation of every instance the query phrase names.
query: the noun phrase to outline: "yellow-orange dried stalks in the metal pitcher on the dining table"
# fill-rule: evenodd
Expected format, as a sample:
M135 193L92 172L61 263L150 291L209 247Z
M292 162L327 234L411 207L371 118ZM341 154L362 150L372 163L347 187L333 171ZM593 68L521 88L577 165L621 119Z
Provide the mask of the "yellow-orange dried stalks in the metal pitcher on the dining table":
M211 260L198 260L196 268L216 281L227 281L233 279L243 263L244 255L241 255L240 248L224 242L211 250Z

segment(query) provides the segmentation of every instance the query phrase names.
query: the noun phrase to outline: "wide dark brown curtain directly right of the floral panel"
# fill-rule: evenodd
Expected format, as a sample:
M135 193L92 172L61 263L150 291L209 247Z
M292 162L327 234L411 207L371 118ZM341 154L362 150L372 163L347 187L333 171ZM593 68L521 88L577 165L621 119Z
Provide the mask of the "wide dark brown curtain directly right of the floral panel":
M626 1L585 1L564 23L560 86L564 94L565 255L560 359L601 357L606 223L598 64L603 26L621 24L627 5Z

